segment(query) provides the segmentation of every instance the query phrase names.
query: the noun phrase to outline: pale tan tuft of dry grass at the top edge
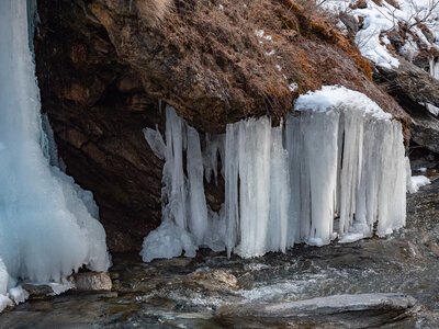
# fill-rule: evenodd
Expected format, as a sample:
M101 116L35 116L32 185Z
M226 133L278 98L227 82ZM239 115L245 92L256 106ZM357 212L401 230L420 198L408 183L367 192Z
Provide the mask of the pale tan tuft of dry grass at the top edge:
M143 21L151 26L157 26L172 9L172 0L134 0L138 14Z

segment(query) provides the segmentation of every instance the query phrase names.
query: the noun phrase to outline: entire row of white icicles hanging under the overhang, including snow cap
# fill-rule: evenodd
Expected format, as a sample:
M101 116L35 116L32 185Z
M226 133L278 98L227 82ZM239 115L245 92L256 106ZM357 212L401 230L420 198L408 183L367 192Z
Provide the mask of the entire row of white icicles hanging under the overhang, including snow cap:
M144 241L145 261L199 247L241 257L384 236L405 224L406 159L401 124L365 95L324 87L272 127L249 118L202 136L167 107L166 143L144 131L165 159L162 224ZM185 155L185 161L184 161ZM219 213L204 180L225 182Z

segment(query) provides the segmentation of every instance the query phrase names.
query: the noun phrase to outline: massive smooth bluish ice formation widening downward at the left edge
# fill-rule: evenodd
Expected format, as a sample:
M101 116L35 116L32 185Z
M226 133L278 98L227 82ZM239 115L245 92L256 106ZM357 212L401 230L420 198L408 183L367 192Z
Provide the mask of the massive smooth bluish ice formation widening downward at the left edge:
M110 264L91 193L49 163L32 30L25 0L0 1L0 295L3 270L11 287L18 279L59 282L83 264L95 271Z

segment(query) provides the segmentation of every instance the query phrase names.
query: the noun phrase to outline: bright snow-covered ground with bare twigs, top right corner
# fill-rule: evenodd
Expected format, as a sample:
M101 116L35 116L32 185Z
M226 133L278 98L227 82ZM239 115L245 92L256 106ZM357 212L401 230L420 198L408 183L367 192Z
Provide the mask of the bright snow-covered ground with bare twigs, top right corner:
M362 4L359 4L362 2ZM399 66L397 55L407 60L415 58L421 49L437 49L439 38L439 1L437 0L326 0L320 7L335 14L351 15L360 26L356 43L361 54L378 66ZM380 4L378 4L380 3ZM339 27L347 30L340 20ZM394 49L391 34L403 36L404 44ZM395 54L396 50L396 54ZM431 59L430 72L439 67Z

